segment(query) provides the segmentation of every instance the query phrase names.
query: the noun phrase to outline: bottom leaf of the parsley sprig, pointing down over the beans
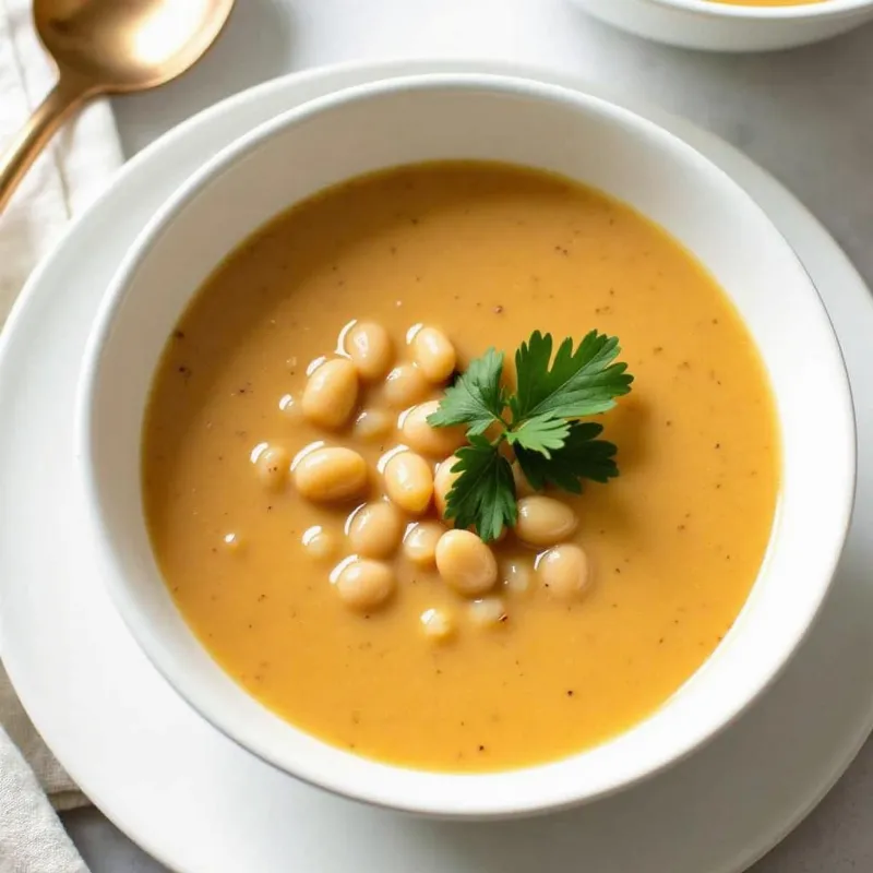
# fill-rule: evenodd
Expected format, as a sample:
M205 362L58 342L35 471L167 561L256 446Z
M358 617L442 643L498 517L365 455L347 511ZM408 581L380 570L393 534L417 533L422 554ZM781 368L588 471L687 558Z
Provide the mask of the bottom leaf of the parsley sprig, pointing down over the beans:
M470 436L470 444L459 449L452 473L459 473L449 492L445 517L456 527L473 527L489 542L497 539L504 525L514 525L515 482L510 462L485 436Z

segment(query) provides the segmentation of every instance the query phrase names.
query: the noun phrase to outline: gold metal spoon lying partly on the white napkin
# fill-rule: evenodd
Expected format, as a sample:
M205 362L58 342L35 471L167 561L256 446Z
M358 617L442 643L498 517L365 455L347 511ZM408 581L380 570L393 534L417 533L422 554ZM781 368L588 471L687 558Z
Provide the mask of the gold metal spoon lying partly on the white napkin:
M58 84L0 155L0 212L61 122L100 94L163 85L200 59L235 0L35 0Z

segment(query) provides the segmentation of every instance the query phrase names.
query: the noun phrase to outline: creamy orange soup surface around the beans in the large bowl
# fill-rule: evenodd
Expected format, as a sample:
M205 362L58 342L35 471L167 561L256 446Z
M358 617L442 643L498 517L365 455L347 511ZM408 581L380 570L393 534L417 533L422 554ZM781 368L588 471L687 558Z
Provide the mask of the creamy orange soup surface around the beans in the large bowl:
M633 392L600 420L621 476L560 494L588 559L583 597L549 596L513 534L494 547L493 621L403 551L382 608L337 596L332 570L352 551L343 519L362 500L338 514L285 474L313 441L351 446L373 468L400 442L394 418L325 436L299 415L310 362L335 356L356 319L387 330L399 363L407 331L434 325L459 370L489 346L512 360L534 330L620 337ZM380 392L366 388L358 410L384 412ZM268 470L266 447L278 459ZM328 190L234 252L168 342L143 465L167 585L254 697L366 756L492 770L613 737L709 657L767 546L778 435L750 335L675 241L566 180L453 163ZM424 613L446 633L427 632Z

